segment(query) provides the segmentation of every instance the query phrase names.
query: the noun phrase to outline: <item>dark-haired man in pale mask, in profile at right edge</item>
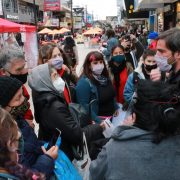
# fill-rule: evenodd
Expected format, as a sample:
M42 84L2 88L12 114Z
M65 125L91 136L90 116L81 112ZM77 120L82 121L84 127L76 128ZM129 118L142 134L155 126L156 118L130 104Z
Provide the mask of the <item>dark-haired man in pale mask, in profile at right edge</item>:
M168 83L180 81L180 29L173 28L157 38L156 61L161 71L169 72Z

